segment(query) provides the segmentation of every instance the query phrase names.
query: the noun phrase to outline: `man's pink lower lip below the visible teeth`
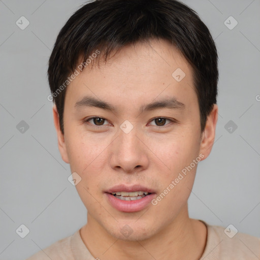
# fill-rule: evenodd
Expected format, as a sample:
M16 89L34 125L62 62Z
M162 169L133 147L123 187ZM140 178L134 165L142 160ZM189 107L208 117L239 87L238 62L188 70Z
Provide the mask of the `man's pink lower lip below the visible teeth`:
M151 193L143 197L142 199L135 200L135 201L123 201L115 196L113 196L110 193L106 193L107 198L110 202L110 204L117 210L122 212L136 212L143 210L145 207L147 207L149 204L151 204L151 201L155 198L156 194Z

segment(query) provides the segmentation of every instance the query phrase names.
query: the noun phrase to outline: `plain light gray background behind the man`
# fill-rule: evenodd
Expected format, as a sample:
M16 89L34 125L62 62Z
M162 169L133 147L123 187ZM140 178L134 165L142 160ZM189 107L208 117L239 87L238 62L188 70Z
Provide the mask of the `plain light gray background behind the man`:
M260 237L260 1L184 3L209 27L220 72L215 144L199 164L190 216L225 227L232 223ZM0 259L25 259L86 222L86 209L67 179L69 165L58 151L46 73L59 30L82 4L0 1ZM16 25L21 16L29 21L24 30ZM224 24L230 16L238 21L232 30ZM21 120L29 126L24 133L17 127ZM225 126L230 120L233 126ZM30 231L25 238L16 233L21 224Z

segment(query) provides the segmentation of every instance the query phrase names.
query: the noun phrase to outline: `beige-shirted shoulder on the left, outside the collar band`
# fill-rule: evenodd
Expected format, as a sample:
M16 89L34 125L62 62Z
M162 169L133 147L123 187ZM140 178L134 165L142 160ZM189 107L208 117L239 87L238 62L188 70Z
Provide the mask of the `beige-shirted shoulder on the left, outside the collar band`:
M50 245L47 248L40 250L39 252L31 255L26 260L72 260L73 252L71 249L71 239L73 235L67 238L63 238Z

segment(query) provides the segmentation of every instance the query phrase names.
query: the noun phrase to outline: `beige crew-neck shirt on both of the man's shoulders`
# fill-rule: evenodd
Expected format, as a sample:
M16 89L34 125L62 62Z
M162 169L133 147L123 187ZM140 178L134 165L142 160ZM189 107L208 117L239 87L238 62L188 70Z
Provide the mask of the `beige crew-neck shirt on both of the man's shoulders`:
M202 221L202 220L201 220ZM257 260L260 259L260 238L237 233L233 238L231 230L222 226L207 226L207 243L200 260ZM96 256L98 257L98 256ZM27 260L94 260L80 236L80 230L72 236L63 238L51 246L30 256Z

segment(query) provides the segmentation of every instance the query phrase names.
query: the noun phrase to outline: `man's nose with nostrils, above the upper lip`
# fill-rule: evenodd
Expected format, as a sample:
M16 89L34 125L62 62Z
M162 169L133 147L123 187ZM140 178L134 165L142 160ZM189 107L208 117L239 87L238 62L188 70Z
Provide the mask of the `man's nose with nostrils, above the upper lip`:
M148 167L148 149L141 136L135 127L127 134L119 129L119 136L111 146L110 166L113 170L136 173Z

